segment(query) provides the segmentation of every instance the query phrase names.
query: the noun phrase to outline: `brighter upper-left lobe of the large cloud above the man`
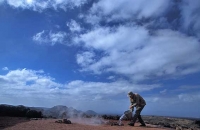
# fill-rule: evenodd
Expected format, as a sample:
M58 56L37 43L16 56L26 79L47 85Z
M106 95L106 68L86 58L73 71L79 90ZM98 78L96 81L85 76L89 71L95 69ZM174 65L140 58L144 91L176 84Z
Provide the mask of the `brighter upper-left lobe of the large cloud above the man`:
M142 46L148 39L148 31L143 27L119 26L116 28L98 27L75 38L75 42L83 41L86 47L98 50L131 51ZM129 46L129 47L127 47Z

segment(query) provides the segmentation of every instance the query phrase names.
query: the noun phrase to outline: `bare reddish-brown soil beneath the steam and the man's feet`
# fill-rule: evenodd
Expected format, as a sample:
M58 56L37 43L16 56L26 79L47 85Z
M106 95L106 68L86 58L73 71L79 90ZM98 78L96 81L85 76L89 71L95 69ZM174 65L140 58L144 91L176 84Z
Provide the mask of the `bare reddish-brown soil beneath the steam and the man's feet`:
M59 119L38 119L30 120L19 117L0 117L0 129L4 130L166 130L157 126L147 124L140 127L139 123L129 126L129 121L123 121L124 126L111 126L112 120L102 119L69 119L72 124L55 123Z

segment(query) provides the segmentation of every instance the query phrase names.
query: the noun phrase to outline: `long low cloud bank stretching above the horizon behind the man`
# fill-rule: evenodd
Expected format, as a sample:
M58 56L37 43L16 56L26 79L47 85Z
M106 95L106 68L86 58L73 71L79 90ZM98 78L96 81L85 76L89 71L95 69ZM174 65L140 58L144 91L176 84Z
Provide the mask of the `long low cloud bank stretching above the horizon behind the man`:
M129 106L129 99L126 96L128 91L142 93L161 87L158 84L134 84L124 80L109 83L75 80L61 84L42 70L29 69L10 70L7 74L0 75L0 86L1 103L42 107L62 104L79 110L92 109L97 112L113 112L113 107L118 107L117 112L123 112ZM155 93L143 94L148 106L145 107L143 114L148 111L148 114L160 114L160 110L167 110L170 106L174 107L174 111L184 106L186 112L191 110L189 109L191 106L195 109L199 107L198 105L196 107L200 100L198 91L190 93L186 90L185 93L176 93L177 95L168 93L164 96ZM104 107L107 103L112 107ZM173 115L173 111L171 112ZM161 113L163 114L169 115L166 112Z

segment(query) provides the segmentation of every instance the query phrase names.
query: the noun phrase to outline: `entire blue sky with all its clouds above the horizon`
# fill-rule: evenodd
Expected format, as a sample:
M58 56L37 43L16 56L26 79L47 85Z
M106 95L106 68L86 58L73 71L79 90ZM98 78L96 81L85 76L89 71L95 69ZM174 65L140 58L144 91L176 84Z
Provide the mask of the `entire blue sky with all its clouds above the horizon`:
M0 0L0 104L200 118L199 0Z

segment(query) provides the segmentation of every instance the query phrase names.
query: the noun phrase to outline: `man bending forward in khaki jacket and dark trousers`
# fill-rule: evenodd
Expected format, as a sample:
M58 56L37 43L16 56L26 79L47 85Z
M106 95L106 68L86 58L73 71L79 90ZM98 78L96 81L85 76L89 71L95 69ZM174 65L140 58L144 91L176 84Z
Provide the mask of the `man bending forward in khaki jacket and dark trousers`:
M134 111L134 107L136 107L135 114L128 125L134 126L136 120L138 119L139 122L141 123L140 126L146 126L140 115L142 109L146 105L145 100L139 94L133 93L133 92L128 92L128 96L129 96L130 102L131 102L130 109L132 109L132 111Z

